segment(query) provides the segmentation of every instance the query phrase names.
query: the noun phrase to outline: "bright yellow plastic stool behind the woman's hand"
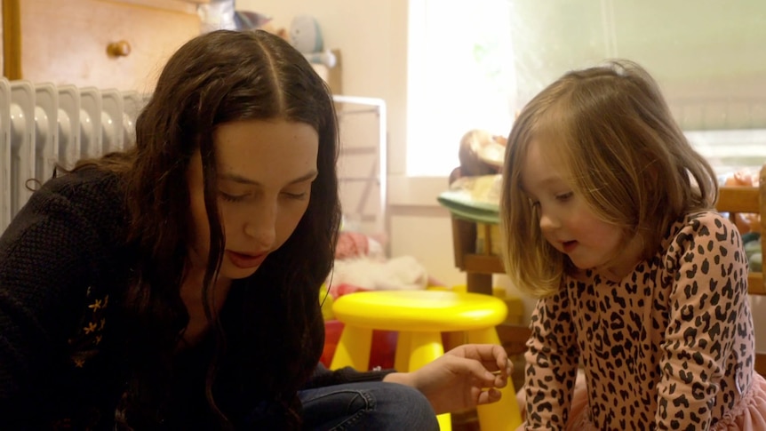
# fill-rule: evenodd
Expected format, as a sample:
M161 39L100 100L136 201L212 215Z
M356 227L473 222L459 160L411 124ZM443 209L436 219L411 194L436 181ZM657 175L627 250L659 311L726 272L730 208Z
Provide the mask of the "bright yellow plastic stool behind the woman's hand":
M398 331L394 366L414 371L444 354L443 331L466 331L469 343L500 344L495 326L507 307L501 299L453 291L363 291L344 295L332 305L344 323L330 368L366 370L372 331ZM513 383L508 379L498 403L477 406L482 431L512 430L522 419ZM451 430L449 413L437 418L442 431Z

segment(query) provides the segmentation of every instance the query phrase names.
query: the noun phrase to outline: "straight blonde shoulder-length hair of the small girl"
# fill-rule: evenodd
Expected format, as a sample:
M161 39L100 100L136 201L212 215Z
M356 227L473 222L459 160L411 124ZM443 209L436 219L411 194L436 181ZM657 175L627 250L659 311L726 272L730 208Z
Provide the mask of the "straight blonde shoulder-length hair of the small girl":
M712 208L718 196L713 169L691 148L643 68L613 60L566 73L523 108L507 143L503 259L515 285L533 296L558 291L575 267L547 243L523 192L532 141L562 163L572 191L596 217L621 227L626 244L638 235L644 259L658 251L674 220Z

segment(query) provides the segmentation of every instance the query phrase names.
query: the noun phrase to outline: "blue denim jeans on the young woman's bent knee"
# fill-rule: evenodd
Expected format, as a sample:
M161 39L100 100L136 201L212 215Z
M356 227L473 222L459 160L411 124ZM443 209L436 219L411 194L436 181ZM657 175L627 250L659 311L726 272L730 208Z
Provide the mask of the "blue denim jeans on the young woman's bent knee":
M417 389L395 383L358 382L299 392L303 423L311 430L439 429L431 404Z

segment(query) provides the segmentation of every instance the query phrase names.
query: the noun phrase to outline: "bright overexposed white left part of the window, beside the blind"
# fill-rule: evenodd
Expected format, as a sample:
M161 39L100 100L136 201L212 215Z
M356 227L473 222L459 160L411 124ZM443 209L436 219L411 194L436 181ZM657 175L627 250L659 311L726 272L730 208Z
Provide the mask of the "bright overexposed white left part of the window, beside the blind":
M507 135L515 100L507 0L410 0L407 174L447 176L471 129Z

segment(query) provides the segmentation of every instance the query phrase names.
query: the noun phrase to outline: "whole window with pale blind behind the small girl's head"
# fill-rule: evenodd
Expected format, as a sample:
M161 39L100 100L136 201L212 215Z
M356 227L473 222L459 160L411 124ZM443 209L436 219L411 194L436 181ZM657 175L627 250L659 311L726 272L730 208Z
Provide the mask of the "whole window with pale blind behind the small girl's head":
M566 70L649 69L719 171L766 162L766 3L410 0L407 174L447 175L471 129L507 135Z

